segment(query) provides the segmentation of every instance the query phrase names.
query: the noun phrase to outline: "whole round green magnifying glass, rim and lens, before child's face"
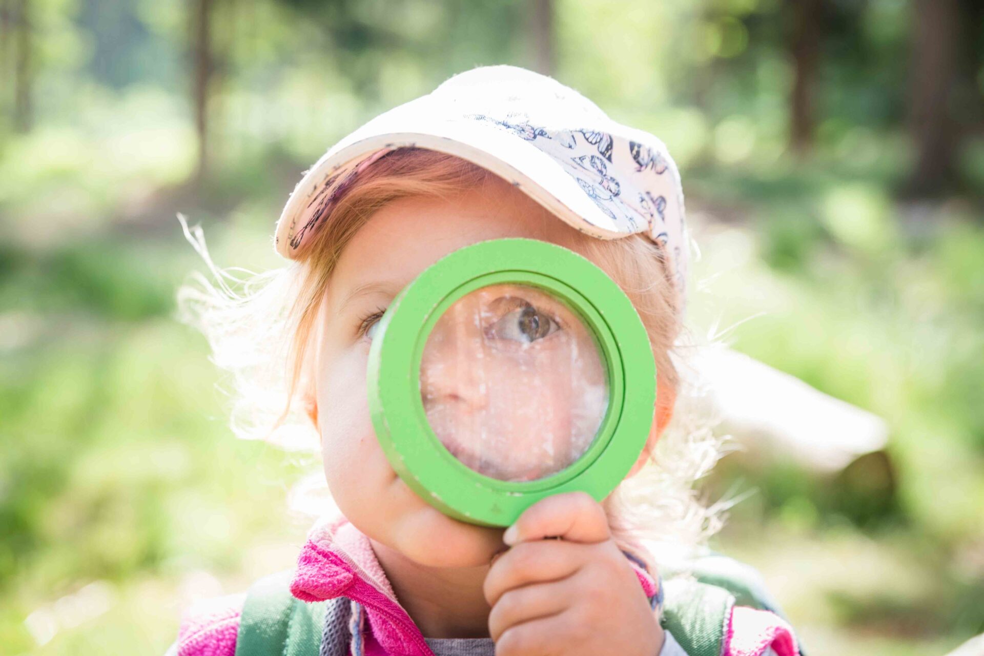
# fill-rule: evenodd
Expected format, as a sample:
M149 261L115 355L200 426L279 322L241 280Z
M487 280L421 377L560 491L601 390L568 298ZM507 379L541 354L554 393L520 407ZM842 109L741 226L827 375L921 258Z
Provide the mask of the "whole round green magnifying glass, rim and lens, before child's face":
M645 447L655 407L632 302L583 256L534 239L479 242L422 271L380 320L367 378L400 478L487 526L563 492L600 502Z

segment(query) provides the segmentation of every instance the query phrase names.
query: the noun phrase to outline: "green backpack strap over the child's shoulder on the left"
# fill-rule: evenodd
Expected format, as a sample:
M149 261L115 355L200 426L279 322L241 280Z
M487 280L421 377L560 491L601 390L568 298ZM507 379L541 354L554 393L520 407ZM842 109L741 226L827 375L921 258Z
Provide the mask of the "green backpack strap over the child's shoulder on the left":
M325 602L290 594L292 569L265 576L246 593L235 656L318 656Z

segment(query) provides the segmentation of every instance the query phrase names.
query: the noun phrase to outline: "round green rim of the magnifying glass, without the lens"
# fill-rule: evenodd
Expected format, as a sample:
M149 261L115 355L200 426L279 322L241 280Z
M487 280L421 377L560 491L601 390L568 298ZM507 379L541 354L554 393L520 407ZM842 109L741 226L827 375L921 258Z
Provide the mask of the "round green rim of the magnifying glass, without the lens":
M608 407L590 447L533 481L502 481L463 464L434 434L420 392L421 357L437 321L462 296L502 283L565 302L593 333L607 372ZM615 489L646 446L656 366L639 313L601 268L550 242L493 239L448 254L400 292L369 349L367 384L376 436L406 485L461 521L509 526L545 497L580 490L600 502Z

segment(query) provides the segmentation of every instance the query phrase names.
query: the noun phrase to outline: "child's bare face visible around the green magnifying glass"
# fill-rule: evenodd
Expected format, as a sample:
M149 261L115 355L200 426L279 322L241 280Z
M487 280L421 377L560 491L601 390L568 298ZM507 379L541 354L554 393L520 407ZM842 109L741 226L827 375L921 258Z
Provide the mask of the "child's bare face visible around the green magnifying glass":
M317 421L329 487L359 530L424 566L487 565L502 548L502 529L448 517L418 498L390 466L373 431L366 394L374 331L360 335L358 329L445 255L504 237L579 250L575 228L495 179L480 190L446 199L401 199L375 212L345 246L327 287Z

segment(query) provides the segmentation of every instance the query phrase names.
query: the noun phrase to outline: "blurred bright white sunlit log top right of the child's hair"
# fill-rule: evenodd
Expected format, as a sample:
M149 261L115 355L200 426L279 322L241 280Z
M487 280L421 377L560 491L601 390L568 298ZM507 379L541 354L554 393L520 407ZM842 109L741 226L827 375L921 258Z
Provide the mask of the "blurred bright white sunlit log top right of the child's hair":
M704 348L693 367L707 381L723 430L746 447L835 473L889 442L889 427L878 415L743 353Z

